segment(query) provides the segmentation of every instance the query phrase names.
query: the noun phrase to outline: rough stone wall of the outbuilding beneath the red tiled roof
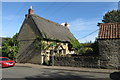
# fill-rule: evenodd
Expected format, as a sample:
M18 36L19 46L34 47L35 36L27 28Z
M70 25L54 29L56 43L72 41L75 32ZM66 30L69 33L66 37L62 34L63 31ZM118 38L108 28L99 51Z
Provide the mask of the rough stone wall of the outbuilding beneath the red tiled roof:
M102 68L120 68L120 39L98 40Z

